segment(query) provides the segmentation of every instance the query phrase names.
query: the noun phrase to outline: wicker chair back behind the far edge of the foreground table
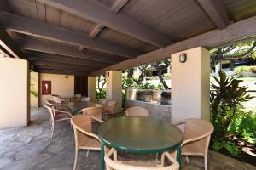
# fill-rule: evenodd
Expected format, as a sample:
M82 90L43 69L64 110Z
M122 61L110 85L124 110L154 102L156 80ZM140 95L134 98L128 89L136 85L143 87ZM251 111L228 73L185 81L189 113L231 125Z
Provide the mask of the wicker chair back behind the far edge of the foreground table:
M126 109L125 116L149 117L149 111L143 107L133 106L133 107Z

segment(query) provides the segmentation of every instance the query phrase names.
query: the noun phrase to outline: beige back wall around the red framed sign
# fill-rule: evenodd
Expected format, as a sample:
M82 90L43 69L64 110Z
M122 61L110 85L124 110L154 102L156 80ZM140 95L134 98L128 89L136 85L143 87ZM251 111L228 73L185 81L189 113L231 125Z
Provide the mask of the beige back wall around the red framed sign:
M51 99L50 95L42 95L42 81L51 81L51 94L58 94L61 96L71 96L74 95L74 76L68 75L56 75L56 74L45 74L40 73L40 95L39 102L43 106L46 99Z

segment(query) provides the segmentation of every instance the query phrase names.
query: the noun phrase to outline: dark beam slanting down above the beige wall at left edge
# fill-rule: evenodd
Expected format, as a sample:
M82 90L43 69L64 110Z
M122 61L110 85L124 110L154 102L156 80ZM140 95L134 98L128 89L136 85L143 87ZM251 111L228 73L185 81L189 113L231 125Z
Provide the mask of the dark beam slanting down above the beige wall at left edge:
M0 20L1 23L1 20ZM20 51L20 48L16 46L15 42L9 37L9 34L0 27L0 45L11 54L12 57L26 59L25 54Z

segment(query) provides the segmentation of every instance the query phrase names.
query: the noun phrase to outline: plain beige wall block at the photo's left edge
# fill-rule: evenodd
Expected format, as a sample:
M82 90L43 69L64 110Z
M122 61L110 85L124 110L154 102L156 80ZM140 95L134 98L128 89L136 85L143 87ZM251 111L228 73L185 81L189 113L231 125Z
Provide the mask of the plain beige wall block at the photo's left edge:
M0 58L0 129L28 124L28 82L26 60Z

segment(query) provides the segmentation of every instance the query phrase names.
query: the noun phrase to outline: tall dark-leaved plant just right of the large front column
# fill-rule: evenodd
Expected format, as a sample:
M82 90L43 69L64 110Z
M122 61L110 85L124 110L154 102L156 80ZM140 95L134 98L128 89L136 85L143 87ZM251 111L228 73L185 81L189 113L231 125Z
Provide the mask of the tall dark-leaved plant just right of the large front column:
M238 117L239 108L242 102L252 99L250 95L246 94L246 87L240 87L241 80L236 80L235 77L226 77L222 71L218 72L219 79L213 77L217 84L211 83L210 93L210 111L211 122L214 126L212 133L213 148L225 148L230 154L236 155L236 150L232 144L223 144L225 138L229 134L230 124ZM228 146L227 146L228 145Z

